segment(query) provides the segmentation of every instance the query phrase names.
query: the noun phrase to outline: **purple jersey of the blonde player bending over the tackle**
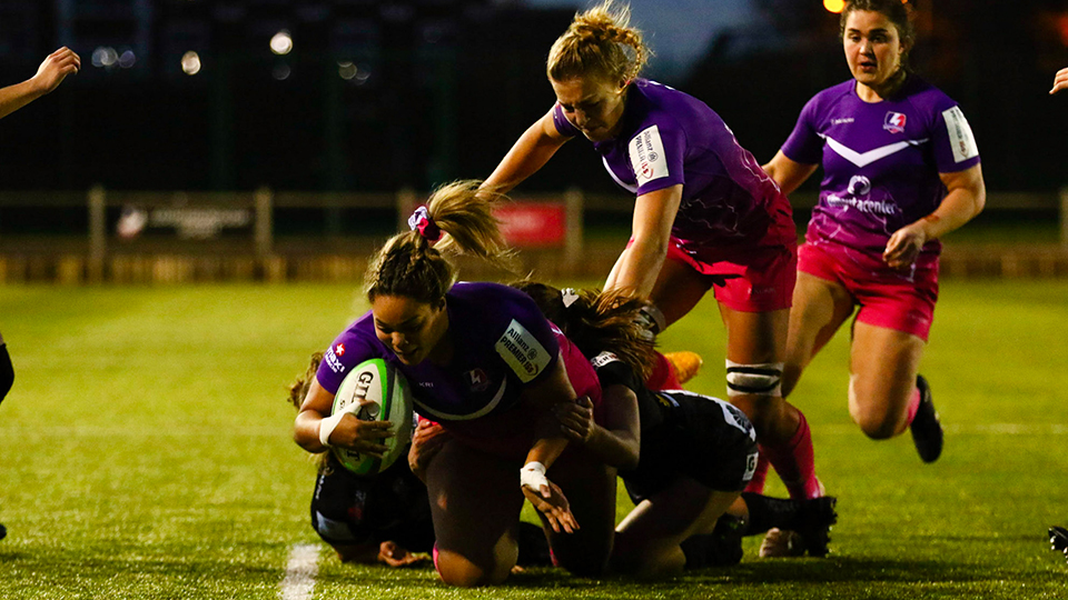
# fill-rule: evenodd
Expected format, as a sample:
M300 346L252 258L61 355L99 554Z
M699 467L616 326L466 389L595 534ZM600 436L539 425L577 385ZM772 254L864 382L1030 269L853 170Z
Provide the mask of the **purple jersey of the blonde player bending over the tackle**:
M686 249L793 242L790 202L708 104L647 79L626 94L619 137L593 147L635 196L683 184L671 234ZM560 103L553 121L563 136L582 134Z

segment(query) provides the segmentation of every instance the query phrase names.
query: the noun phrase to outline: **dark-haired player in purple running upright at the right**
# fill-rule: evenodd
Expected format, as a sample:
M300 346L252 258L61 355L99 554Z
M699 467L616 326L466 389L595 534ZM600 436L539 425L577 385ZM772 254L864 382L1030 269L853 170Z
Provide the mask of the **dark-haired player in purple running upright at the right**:
M911 429L932 462L942 430L918 370L938 298L939 238L986 199L979 151L957 103L909 72L913 31L900 0L847 3L841 39L853 78L813 97L764 166L785 193L823 167L799 249L782 391L857 310L850 416L877 440Z

